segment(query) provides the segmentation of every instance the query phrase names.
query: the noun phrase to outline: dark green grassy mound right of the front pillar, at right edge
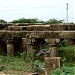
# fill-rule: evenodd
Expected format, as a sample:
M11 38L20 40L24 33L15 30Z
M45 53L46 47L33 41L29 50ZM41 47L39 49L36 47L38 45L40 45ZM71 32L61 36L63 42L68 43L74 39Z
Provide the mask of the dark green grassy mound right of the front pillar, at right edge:
M60 47L58 54L67 62L75 61L75 45Z

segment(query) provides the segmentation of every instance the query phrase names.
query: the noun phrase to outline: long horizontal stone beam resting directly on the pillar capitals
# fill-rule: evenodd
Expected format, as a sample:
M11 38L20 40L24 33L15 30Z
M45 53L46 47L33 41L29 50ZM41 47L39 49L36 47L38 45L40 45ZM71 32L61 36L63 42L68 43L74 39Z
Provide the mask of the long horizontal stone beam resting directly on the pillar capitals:
M75 38L75 31L0 31L0 37L6 37L5 40L12 37L20 38Z

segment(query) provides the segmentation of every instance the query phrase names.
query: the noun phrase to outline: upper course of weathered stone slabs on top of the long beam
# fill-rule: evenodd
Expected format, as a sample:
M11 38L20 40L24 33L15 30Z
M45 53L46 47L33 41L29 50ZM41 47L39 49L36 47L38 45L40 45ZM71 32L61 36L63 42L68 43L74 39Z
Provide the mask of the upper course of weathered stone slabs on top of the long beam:
M74 24L51 24L51 25L9 25L7 30L25 30L25 31L63 31L63 30L75 30Z

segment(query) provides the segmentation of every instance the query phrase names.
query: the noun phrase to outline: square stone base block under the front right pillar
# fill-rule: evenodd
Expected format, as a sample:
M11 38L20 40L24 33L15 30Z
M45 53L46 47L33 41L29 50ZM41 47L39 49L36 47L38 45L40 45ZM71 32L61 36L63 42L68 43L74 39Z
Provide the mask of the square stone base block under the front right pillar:
M45 75L51 75L53 70L60 68L60 57L45 57Z

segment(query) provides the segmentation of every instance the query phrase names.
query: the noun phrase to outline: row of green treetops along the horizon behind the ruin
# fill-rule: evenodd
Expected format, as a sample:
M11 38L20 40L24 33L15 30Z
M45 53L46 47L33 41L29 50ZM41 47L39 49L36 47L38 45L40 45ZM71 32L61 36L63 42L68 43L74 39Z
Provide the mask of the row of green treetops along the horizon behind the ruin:
M7 23L7 21L0 19L0 23ZM57 23L64 23L64 20L57 20L55 18L49 19L48 21L39 20L38 18L26 19L20 18L17 20L12 20L9 23L44 23L44 24L57 24ZM73 23L73 22L72 22Z

